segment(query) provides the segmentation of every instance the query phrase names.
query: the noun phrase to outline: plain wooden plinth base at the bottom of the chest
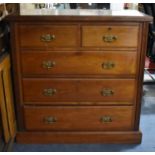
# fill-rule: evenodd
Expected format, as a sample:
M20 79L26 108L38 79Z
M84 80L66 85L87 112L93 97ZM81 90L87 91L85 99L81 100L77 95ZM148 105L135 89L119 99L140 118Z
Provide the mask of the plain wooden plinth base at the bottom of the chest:
M120 132L19 132L18 143L141 143L142 134L139 131Z

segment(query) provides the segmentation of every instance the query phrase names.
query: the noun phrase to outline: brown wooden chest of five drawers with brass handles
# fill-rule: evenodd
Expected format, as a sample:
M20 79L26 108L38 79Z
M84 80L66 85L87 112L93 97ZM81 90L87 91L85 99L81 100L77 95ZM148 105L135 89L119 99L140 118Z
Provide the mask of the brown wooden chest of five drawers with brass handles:
M99 12L8 17L18 142L141 141L143 67L152 18Z

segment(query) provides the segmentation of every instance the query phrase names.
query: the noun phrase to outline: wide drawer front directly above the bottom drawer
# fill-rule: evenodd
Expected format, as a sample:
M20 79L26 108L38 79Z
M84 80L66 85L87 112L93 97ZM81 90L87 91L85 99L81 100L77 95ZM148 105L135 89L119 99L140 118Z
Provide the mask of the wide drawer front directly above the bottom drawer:
M29 104L133 102L134 93L135 80L132 79L23 79L24 102Z

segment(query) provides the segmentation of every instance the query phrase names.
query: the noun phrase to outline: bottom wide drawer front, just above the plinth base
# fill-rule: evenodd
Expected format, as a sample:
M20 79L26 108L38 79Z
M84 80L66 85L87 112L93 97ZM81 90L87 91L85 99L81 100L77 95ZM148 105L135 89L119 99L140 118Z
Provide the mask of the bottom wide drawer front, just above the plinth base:
M131 130L132 106L26 107L26 130L116 131Z

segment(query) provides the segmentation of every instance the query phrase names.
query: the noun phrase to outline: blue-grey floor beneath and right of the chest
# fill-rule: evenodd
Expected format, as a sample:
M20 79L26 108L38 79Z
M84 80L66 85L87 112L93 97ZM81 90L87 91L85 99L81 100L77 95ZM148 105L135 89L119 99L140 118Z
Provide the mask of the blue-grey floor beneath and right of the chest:
M141 144L14 144L14 152L155 152L155 84L143 90Z

